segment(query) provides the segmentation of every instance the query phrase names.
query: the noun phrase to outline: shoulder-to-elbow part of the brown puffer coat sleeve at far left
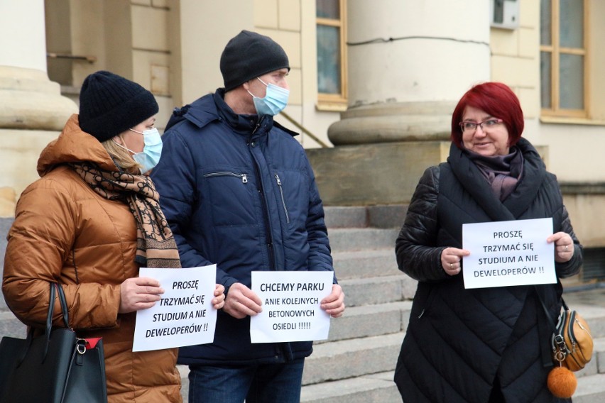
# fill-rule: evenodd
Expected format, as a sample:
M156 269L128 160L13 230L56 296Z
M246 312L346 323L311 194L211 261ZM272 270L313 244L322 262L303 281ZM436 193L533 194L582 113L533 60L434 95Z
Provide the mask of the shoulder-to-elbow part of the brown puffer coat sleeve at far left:
M60 278L74 243L74 211L70 194L53 180L34 182L17 203L7 236L2 292L11 311L28 326L45 326L48 284Z

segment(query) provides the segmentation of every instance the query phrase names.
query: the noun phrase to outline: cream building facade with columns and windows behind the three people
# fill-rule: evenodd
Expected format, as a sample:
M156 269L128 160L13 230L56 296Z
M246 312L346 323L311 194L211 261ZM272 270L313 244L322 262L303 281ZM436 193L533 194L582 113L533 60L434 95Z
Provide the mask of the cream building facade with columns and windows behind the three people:
M222 49L247 29L290 57L277 119L301 133L326 204L405 204L447 155L459 97L508 84L587 247L583 280L599 280L604 18L601 0L0 0L0 215L36 180L87 74L150 89L162 128L222 86Z

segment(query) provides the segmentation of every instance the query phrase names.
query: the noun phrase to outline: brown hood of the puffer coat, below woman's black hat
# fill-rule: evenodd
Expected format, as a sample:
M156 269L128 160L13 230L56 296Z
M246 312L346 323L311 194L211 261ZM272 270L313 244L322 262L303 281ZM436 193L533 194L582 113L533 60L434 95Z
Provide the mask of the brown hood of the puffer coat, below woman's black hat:
M67 162L94 162L104 170L117 170L116 164L99 140L82 131L78 115L73 114L58 138L48 143L38 158L38 175L44 176L55 165Z

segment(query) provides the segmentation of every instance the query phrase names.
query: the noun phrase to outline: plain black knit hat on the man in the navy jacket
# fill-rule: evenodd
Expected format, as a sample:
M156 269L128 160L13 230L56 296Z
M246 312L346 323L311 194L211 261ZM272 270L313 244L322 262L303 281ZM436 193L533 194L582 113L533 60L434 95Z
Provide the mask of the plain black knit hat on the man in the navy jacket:
M241 31L229 40L221 55L221 72L225 91L268 72L290 71L288 55L268 36Z

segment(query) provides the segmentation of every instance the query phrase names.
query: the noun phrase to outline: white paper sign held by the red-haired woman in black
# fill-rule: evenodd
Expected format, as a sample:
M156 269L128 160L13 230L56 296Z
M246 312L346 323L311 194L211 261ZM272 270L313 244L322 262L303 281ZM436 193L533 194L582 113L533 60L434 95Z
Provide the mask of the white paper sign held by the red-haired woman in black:
M462 225L465 288L557 282L552 219L496 221Z

